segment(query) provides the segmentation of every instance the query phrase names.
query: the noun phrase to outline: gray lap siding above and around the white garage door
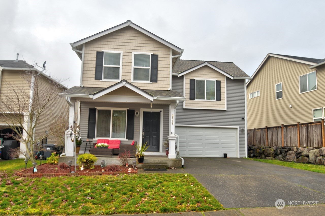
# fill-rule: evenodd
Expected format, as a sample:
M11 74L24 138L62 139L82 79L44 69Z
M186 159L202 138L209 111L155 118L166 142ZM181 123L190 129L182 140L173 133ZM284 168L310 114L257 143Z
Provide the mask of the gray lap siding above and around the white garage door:
M183 77L173 76L172 90L183 94ZM227 110L183 109L180 101L176 108L176 125L209 125L239 127L239 154L245 157L245 80L227 78ZM177 134L177 131L175 131Z

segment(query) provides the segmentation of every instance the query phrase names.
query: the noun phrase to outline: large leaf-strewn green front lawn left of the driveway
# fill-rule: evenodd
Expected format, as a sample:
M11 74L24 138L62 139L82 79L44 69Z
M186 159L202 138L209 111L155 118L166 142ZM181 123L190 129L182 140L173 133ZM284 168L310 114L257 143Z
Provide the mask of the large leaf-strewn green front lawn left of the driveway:
M0 162L0 215L133 214L223 210L191 175L133 174L25 178ZM9 171L9 172L8 172Z

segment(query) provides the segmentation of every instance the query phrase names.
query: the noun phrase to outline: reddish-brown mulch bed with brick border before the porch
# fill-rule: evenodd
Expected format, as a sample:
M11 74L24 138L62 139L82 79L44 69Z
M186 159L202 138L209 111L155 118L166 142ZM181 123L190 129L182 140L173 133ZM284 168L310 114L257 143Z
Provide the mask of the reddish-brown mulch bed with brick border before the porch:
M131 165L132 166L132 165ZM131 167L130 166L130 167ZM59 165L51 165L51 164L42 164L37 166L37 172L34 172L34 167L28 168L27 170L19 171L17 174L19 176L25 177L36 177L36 176L93 176L93 175L116 175L123 173L137 173L132 168L132 171L129 172L129 167L119 166L119 165L107 165L104 167L104 172L102 172L102 167L100 165L96 165L94 169L80 169L81 166L76 166L76 172L70 173L69 166L67 168L60 168ZM71 172L74 172L74 166L71 166Z

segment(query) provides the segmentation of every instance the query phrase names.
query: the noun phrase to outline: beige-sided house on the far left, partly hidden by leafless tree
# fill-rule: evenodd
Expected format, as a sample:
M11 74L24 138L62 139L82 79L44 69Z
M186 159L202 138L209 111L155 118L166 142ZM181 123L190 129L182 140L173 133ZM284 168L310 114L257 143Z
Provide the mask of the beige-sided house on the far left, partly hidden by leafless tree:
M30 71L35 71L39 73L38 79L38 90L40 90L40 97L46 94L49 91L51 82L54 80L44 73L36 70L32 65L26 63L25 61L18 60L0 60L0 98L1 101L10 103L10 110L6 110L8 108L4 108L3 104L1 104L2 112L12 113L11 119L23 119L27 122L29 109L29 103L31 100L35 100L37 94L33 93L31 89L32 83L32 75ZM50 81L50 82L49 82ZM54 81L55 82L55 81ZM13 89L18 94L17 97L11 97L13 95ZM58 88L55 89L53 94L59 94L63 90L67 88L63 85L59 85ZM18 104L18 100L20 105ZM67 105L66 99L59 97L56 101L55 105L49 109L46 109L43 114L40 116L40 124L36 125L34 139L38 140L39 137L44 136L46 131L49 131L51 125L54 124L54 119L49 119L49 116L53 116L52 114L58 115L62 114L62 116L68 116L69 107ZM3 115L0 115L0 129L8 129L8 119ZM19 118L21 116L21 118ZM10 122L9 122L10 123ZM17 124L19 125L19 124ZM1 133L1 132L0 132ZM22 133L24 136L24 132ZM0 134L3 138L5 134ZM47 138L48 144L62 144L62 139L48 135ZM44 140L45 144L45 140ZM23 150L25 146L20 146L20 149ZM23 155L20 155L23 157Z

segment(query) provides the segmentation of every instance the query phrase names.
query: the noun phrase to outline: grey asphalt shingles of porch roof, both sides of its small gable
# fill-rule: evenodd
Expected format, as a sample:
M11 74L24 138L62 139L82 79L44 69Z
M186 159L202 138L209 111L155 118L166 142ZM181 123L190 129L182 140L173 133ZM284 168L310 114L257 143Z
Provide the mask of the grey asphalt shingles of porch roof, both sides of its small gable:
M103 89L105 88L74 86L72 88L69 88L61 92L61 94L93 95L96 92L101 91ZM143 91L156 97L184 97L182 94L180 94L177 91L167 91L167 90L143 90Z

